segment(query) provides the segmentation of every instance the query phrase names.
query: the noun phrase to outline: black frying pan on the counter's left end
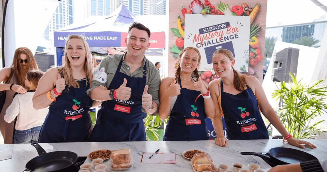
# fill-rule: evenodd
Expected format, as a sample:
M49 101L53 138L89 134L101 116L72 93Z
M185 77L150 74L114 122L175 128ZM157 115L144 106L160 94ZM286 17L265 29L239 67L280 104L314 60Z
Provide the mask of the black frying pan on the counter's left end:
M38 143L32 143L39 156L26 163L26 169L31 172L67 171L74 167L78 155L70 151L55 151L46 153Z

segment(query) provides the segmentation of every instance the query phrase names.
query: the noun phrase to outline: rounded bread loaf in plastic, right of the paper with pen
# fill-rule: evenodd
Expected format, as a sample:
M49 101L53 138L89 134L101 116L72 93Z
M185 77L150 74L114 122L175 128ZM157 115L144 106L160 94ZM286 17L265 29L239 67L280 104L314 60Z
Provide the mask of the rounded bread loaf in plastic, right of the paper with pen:
M193 169L195 171L217 171L217 167L214 165L214 161L210 155L204 152L194 154L191 160Z

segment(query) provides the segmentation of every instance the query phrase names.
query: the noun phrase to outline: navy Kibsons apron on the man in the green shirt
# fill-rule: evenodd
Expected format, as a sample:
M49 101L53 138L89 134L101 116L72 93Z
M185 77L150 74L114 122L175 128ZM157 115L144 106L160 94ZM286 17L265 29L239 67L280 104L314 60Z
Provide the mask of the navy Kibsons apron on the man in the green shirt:
M126 142L146 141L142 112L142 95L146 85L146 63L143 77L135 78L120 72L123 57L108 89L117 89L127 80L126 87L132 89L129 100L108 100L102 103L98 111L96 124L92 130L90 142Z

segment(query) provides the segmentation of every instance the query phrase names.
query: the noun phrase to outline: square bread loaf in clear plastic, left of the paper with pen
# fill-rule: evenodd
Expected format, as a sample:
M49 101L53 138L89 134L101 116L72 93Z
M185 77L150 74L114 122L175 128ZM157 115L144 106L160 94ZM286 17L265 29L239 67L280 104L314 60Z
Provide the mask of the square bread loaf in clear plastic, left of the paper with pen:
M113 150L110 156L112 169L130 168L132 167L129 149Z

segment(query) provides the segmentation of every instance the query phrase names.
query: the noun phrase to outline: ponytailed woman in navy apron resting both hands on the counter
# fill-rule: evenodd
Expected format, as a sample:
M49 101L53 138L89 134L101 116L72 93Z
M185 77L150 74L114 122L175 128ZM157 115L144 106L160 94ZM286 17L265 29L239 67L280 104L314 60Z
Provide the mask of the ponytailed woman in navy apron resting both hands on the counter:
M216 107L212 124L217 138L215 143L227 146L228 140L269 139L266 125L259 112L284 136L286 142L304 148L316 146L293 138L285 129L278 115L269 104L264 90L257 78L244 76L233 66L235 59L230 50L218 49L212 55L215 73L220 77L209 83L209 90ZM223 134L221 111L226 123L227 139Z

